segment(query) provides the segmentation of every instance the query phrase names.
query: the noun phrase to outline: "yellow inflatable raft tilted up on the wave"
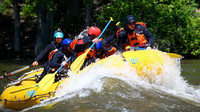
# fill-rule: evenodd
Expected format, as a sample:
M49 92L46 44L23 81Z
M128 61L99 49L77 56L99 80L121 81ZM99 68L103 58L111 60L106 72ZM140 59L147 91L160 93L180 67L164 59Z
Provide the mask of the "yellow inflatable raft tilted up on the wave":
M169 58L166 53L157 50L143 50L143 51L127 51L120 55L112 55L97 63L93 63L83 70L79 71L81 74L88 71L92 67L116 67L120 68L127 61L131 67L136 70L139 76L149 77L150 75L159 75L162 73L162 66L166 58ZM124 61L125 60L125 61ZM169 60L169 59L168 59ZM173 60L171 59L171 62ZM53 97L56 90L65 80L53 83L47 90L42 90L35 82L35 75L41 74L43 69L33 70L25 73L20 81L8 84L7 88L1 94L1 104L4 108L14 110L22 110L39 104L41 101ZM47 74L48 75L48 74Z

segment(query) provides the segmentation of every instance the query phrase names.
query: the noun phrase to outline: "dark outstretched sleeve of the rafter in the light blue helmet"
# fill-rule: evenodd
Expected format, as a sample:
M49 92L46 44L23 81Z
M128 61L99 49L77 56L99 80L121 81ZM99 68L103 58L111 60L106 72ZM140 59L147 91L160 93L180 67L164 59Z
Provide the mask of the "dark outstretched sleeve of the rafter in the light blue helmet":
M45 57L47 53L50 53L51 51L55 49L59 49L61 47L61 44L56 43L56 41L53 41L51 44L47 45L46 48L35 58L35 61L39 61L42 58Z

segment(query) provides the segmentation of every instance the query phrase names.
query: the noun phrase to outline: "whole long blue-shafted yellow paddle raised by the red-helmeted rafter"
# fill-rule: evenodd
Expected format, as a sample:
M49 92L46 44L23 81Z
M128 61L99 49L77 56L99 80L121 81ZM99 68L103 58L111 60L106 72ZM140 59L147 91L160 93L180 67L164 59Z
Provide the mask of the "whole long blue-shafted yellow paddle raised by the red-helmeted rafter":
M101 32L101 34L98 36L97 39L99 39L101 37L101 35L104 33L104 31L107 29L108 25L110 24L110 22L113 21L113 18L110 17L110 21L107 23L107 25L105 26L105 28L103 29L103 31ZM90 48L87 50L87 52L85 52L84 54L80 55L79 57L76 58L76 60L71 64L70 69L71 71L75 74L79 71L79 69L81 68L81 66L83 65L85 58L88 54L88 52L91 50L91 48L95 45L95 42L90 46Z

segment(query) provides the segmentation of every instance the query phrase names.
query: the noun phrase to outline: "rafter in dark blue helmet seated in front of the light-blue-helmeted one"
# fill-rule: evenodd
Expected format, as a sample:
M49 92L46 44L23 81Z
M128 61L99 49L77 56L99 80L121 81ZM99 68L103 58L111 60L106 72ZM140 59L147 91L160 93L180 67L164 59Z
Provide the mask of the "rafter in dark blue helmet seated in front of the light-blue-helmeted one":
M69 38L66 38L62 41L61 49L54 52L54 54L51 56L49 61L47 61L43 67L44 70L40 77L36 78L36 83L38 83L48 72L55 71L55 68L63 66L69 66L69 63L66 63L65 61L72 55L72 49L70 48L72 40Z

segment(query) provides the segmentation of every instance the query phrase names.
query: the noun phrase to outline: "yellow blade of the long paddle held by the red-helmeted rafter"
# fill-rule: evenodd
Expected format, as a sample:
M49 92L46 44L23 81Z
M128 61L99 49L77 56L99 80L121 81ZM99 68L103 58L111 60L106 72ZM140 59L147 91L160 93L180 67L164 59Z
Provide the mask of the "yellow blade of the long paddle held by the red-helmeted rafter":
M70 69L74 74L76 74L80 70L90 49L91 48L89 48L84 54L77 57L76 60L71 64Z

